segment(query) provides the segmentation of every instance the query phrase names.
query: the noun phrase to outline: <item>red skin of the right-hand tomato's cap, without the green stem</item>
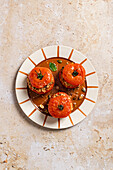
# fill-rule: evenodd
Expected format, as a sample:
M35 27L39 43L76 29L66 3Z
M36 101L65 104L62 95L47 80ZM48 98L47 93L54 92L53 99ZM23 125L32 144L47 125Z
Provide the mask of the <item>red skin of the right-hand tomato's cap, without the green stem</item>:
M78 75L75 77L72 75L74 71L77 71ZM81 64L67 64L63 69L63 78L66 82L78 86L85 80L85 69Z

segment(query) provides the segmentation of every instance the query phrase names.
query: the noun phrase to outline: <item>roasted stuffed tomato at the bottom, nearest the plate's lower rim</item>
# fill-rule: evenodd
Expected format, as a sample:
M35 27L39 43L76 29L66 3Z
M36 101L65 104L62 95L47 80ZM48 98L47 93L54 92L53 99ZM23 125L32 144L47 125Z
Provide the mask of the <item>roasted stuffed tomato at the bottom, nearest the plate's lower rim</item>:
M49 101L48 111L55 118L67 117L73 110L70 97L64 92L58 92Z

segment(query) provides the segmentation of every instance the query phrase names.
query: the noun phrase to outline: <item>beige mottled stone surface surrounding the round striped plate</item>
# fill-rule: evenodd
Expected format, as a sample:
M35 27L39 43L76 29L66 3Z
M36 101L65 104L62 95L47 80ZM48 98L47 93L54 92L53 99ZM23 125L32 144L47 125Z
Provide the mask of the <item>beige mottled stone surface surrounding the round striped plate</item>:
M0 170L113 169L113 0L0 0ZM85 54L99 79L92 113L66 130L32 123L15 96L22 62L48 45Z

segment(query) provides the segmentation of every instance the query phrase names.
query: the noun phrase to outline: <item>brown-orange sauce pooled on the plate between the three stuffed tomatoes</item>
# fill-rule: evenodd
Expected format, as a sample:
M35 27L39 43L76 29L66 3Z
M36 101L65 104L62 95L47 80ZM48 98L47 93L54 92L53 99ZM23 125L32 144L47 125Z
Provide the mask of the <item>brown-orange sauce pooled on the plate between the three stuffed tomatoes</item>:
M74 63L74 62L71 60L62 58L62 57L53 57L53 58L46 59L40 62L37 66L47 67L50 69L50 65L49 65L50 63L54 63L57 67L56 71L52 71L53 76L55 78L55 84L54 84L53 89L46 94L39 95L33 92L32 90L30 90L29 88L27 88L29 98L31 99L32 103L35 105L36 108L38 108L42 113L50 116L48 112L49 99L51 98L53 94L57 92L65 92L70 96L72 103L73 103L73 111L75 111L82 104L86 96L86 93L87 93L86 80L84 81L82 85L79 85L78 87L74 89L65 88L59 80L59 72L62 69L62 67L65 67L65 65Z

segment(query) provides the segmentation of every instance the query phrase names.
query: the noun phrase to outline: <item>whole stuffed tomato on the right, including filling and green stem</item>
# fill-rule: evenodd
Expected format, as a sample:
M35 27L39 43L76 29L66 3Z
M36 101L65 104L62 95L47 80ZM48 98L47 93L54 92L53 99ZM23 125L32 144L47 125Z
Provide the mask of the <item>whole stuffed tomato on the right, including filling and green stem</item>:
M85 69L78 63L67 64L62 67L59 79L66 88L75 88L85 81Z

